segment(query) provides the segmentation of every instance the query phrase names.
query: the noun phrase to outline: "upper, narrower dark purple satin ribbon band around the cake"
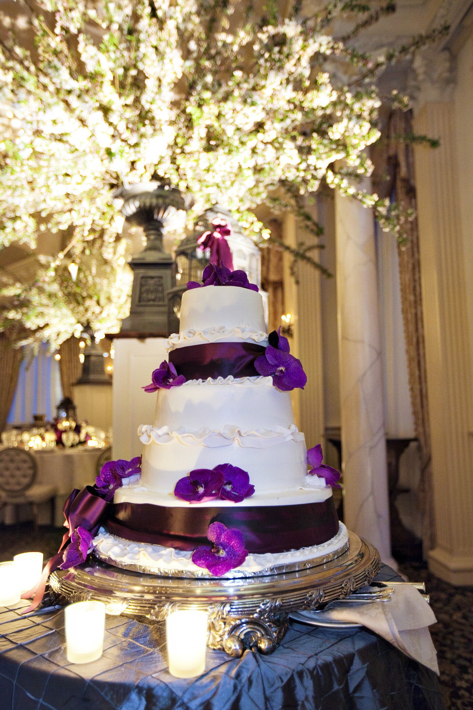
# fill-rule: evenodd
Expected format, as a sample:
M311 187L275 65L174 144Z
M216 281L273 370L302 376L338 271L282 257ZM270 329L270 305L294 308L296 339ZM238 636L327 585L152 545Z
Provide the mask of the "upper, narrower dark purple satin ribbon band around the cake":
M176 348L169 353L178 375L187 380L233 377L257 377L255 360L265 346L255 343L202 343Z

